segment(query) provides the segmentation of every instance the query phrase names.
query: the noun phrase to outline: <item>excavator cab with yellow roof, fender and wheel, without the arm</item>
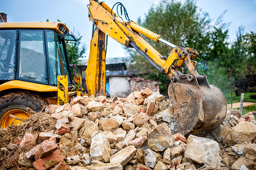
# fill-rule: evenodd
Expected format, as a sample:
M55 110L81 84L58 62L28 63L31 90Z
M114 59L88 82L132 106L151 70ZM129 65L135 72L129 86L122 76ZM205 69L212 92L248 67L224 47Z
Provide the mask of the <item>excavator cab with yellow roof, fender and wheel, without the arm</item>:
M76 40L60 22L0 23L0 124L5 128L30 112L57 104L57 76L71 79L65 41ZM70 92L69 98L76 96Z

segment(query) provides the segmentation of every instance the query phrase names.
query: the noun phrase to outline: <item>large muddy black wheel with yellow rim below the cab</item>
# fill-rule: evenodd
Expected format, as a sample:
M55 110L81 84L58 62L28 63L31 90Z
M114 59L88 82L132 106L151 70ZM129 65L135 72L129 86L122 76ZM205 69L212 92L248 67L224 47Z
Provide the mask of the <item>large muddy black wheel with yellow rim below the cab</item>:
M19 125L23 122L16 120L9 115L17 116L21 119L28 119L30 112L27 107L33 111L39 112L46 105L39 95L30 92L9 93L0 98L0 126L6 128L11 124Z

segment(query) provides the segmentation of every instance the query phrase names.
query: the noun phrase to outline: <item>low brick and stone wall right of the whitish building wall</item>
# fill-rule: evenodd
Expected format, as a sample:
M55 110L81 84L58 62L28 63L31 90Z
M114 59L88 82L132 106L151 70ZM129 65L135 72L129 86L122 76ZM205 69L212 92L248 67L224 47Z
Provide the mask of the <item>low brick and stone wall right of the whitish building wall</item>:
M130 91L139 92L143 91L146 87L150 88L153 92L159 92L158 81L144 80L142 78L131 78L130 79Z

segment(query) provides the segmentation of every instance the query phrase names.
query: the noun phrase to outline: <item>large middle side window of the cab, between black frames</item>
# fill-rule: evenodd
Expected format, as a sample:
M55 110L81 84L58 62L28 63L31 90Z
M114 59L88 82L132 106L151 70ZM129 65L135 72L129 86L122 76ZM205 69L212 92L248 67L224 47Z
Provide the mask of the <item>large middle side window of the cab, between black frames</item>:
M20 30L18 78L48 84L43 30Z

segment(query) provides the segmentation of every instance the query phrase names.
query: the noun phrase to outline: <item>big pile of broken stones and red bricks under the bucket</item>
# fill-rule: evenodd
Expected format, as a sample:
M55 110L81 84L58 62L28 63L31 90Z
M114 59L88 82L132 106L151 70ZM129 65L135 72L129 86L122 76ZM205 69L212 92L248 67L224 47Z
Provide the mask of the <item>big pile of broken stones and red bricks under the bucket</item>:
M170 100L149 88L127 98L76 97L49 105L55 129L26 132L2 147L2 167L36 170L256 169L256 121L228 110L204 137L173 134ZM38 142L39 141L39 142ZM9 155L8 155L9 154ZM18 164L17 164L18 163Z

